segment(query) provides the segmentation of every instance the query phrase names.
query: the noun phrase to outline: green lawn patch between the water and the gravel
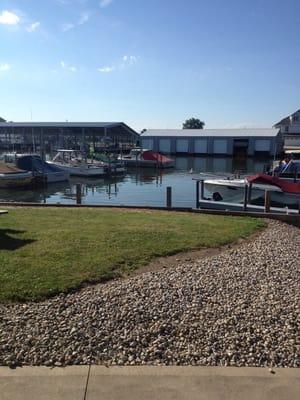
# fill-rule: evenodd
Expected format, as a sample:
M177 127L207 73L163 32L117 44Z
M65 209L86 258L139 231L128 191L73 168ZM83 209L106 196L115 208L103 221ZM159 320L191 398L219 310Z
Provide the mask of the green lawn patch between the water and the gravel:
M258 219L163 211L12 208L0 217L0 302L40 300L263 226Z

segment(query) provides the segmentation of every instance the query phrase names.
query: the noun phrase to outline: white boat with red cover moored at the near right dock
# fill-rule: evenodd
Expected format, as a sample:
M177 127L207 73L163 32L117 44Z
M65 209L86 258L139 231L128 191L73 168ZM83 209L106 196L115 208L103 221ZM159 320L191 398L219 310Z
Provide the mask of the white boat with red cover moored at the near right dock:
M271 194L271 204L277 207L298 208L300 202L300 183L289 182L267 174L260 173L241 179L205 179L204 186L212 196L212 200L216 202L242 204L245 186L251 188L249 204L263 205L266 191Z

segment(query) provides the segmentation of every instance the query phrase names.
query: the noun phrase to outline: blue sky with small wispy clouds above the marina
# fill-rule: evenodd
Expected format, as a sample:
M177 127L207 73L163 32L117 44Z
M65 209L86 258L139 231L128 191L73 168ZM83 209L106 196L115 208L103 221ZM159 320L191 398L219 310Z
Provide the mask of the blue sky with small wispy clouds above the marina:
M300 108L299 0L0 0L0 116L269 127Z

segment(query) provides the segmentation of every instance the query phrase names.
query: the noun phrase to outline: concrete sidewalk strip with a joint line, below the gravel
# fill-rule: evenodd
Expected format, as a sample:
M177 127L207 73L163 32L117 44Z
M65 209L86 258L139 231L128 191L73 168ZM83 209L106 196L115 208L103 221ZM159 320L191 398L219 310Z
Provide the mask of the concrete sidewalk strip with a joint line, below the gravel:
M296 400L299 369L0 367L1 400Z

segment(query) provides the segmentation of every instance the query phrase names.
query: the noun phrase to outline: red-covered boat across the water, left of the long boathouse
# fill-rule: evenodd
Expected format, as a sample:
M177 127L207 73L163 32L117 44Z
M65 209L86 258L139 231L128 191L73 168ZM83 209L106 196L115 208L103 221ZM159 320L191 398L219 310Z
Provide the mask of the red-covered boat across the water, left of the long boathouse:
M127 155L118 157L127 166L150 168L173 168L174 160L152 150L134 147Z

